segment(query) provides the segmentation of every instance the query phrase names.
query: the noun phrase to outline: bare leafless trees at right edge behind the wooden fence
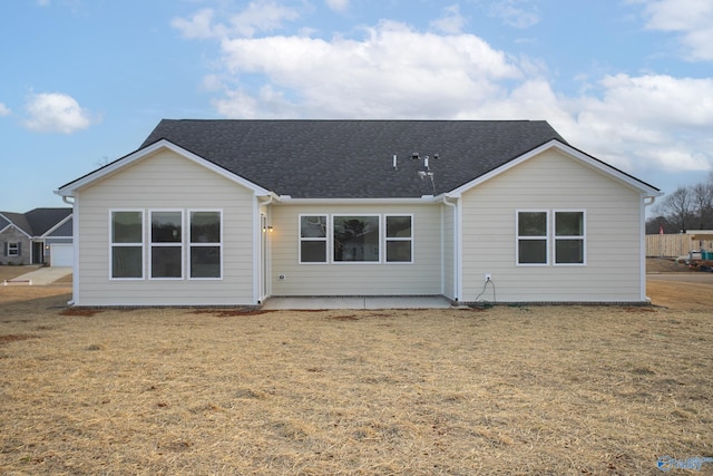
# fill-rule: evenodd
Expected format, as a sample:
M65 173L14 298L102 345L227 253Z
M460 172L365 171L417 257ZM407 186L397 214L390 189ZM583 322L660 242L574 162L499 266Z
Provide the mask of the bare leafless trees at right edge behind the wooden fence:
M713 230L713 172L705 182L682 186L658 198L646 221L646 234Z

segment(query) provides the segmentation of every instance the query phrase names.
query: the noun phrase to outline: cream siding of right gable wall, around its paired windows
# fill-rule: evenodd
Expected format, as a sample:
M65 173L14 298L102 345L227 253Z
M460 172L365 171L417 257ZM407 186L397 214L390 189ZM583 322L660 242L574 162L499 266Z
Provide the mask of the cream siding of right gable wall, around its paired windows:
M634 188L547 150L463 193L461 205L463 301L476 299L486 273L502 302L642 300L643 205ZM521 210L586 211L586 265L556 265L551 255L551 265L518 265Z

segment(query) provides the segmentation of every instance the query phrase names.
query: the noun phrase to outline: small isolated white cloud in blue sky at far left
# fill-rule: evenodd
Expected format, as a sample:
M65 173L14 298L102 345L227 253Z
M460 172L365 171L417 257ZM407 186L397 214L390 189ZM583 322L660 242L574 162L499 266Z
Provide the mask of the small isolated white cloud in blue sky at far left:
M89 113L79 103L60 93L31 95L26 111L25 126L40 133L71 134L86 129L92 123Z

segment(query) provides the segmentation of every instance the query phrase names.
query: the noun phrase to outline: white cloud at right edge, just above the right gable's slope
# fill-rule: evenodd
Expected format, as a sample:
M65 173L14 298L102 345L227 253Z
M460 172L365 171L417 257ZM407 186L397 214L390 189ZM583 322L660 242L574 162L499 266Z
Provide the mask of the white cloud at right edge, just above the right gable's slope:
M561 101L573 118L561 127L570 142L628 168L713 166L713 79L616 75L598 86Z

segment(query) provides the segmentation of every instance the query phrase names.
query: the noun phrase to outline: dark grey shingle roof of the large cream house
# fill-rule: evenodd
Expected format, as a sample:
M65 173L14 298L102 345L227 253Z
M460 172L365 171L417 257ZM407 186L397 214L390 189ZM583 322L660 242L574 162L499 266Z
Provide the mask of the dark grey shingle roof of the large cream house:
M164 119L141 148L159 139L295 198L437 195L551 139L565 142L544 120ZM418 174L427 155L433 184Z

